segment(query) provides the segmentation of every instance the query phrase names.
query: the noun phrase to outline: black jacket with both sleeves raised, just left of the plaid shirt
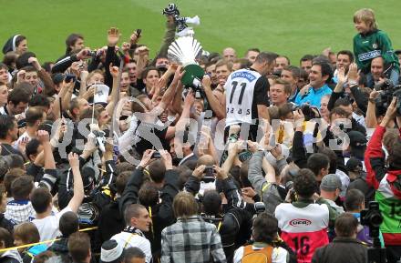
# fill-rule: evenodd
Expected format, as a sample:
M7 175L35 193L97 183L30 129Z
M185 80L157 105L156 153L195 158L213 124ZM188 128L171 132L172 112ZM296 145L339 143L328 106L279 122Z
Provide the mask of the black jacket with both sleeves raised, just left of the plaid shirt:
M169 227L175 222L174 212L172 209L172 200L179 193L178 187L179 174L174 170L167 170L164 177L164 187L161 188L159 204L150 207L152 214L153 233L148 233L147 238L150 240L152 254L154 258L158 258L161 253L161 230ZM123 215L127 206L138 203L139 188L143 182L143 167L137 167L133 174L129 177L127 187L119 201L119 211ZM149 209L149 207L147 207ZM150 214L150 213L149 213Z

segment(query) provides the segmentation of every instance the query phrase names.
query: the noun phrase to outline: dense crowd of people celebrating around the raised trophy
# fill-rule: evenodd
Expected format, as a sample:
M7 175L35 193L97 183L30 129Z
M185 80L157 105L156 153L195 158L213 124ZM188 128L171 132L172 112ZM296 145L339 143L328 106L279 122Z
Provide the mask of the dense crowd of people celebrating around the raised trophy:
M203 52L193 86L170 15L153 59L140 30L43 64L13 35L0 262L401 262L401 50L371 9L354 23L353 51L299 63Z

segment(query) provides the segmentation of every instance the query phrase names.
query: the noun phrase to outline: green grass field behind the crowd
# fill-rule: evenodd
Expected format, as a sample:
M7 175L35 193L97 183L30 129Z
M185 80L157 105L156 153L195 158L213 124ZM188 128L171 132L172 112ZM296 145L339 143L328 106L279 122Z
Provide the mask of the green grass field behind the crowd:
M2 6L1 46L15 33L26 35L29 50L41 62L54 61L65 52L72 32L85 35L86 45L106 44L108 27L117 26L124 40L142 29L141 44L151 54L159 49L165 18L161 10L170 1L144 0L19 0ZM325 47L352 49L353 15L361 7L375 10L379 28L401 48L400 0L177 0L182 15L200 15L196 38L204 49L218 51L232 46L239 56L249 47L287 55L298 64L304 54L318 54Z

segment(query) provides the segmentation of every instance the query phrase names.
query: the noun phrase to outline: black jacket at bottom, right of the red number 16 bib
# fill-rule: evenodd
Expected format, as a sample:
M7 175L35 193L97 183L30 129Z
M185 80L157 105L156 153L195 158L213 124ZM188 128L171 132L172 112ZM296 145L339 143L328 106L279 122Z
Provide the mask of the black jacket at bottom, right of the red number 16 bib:
M367 248L355 238L334 238L333 243L314 251L313 263L365 263Z

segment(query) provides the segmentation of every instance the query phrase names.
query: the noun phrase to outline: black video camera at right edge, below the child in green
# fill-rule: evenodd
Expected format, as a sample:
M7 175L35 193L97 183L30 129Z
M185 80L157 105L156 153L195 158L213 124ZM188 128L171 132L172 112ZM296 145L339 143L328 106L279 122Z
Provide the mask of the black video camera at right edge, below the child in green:
M381 90L379 96L375 98L376 111L380 116L386 114L388 106L390 106L393 97L396 96L396 115L401 116L401 85L394 86L393 83L386 79L386 81L378 86L375 90Z

